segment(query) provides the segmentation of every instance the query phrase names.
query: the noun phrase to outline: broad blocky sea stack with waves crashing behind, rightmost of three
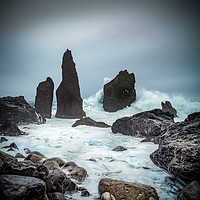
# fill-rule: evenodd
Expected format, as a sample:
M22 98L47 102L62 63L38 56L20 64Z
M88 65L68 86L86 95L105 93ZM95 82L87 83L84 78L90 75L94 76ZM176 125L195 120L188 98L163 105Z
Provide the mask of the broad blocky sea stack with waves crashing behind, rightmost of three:
M108 112L115 112L130 106L136 100L135 76L127 70L119 74L104 85L103 108Z

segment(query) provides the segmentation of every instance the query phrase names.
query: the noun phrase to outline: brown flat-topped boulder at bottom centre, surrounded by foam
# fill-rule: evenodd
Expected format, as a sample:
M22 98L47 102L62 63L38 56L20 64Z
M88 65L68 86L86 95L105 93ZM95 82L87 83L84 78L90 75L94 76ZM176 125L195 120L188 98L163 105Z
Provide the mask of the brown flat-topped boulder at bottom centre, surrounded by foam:
M144 184L129 183L126 181L114 180L104 178L101 179L98 185L99 194L102 195L104 192L109 192L114 196L115 199L139 199L147 200L150 197L158 200L156 190Z

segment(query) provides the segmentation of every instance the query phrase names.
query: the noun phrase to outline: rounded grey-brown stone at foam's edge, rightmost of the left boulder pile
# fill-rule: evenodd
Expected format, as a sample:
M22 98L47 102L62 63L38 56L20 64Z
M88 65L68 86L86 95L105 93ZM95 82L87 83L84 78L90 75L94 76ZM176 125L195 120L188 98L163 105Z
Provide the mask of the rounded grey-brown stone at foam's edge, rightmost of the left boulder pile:
M67 162L65 165L62 167L63 170L67 171L67 175L77 179L79 181L84 181L85 178L87 177L87 171L83 167L79 167L76 163L74 162Z

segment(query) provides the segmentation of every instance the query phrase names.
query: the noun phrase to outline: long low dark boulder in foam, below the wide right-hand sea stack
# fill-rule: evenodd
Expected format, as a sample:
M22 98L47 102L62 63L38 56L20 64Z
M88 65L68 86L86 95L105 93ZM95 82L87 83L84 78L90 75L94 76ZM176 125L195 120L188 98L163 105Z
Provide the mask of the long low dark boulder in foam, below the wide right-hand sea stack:
M158 136L171 123L174 123L172 114L154 109L116 120L112 132L138 137Z

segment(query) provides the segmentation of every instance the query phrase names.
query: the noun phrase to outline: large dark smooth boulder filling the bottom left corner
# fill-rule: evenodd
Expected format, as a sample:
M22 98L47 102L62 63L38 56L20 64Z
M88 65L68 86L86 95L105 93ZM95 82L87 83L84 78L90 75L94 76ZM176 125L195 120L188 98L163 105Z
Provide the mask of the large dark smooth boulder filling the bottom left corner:
M0 196L13 200L48 200L44 181L19 175L0 175Z

